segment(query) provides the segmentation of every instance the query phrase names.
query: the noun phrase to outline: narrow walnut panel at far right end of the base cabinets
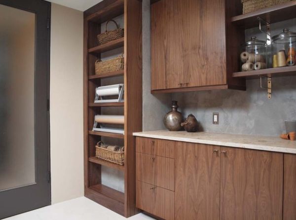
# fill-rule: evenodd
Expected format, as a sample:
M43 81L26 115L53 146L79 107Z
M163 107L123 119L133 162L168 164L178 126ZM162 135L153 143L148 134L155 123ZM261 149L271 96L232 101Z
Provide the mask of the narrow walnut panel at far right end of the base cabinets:
M296 155L284 154L283 220L296 220Z

